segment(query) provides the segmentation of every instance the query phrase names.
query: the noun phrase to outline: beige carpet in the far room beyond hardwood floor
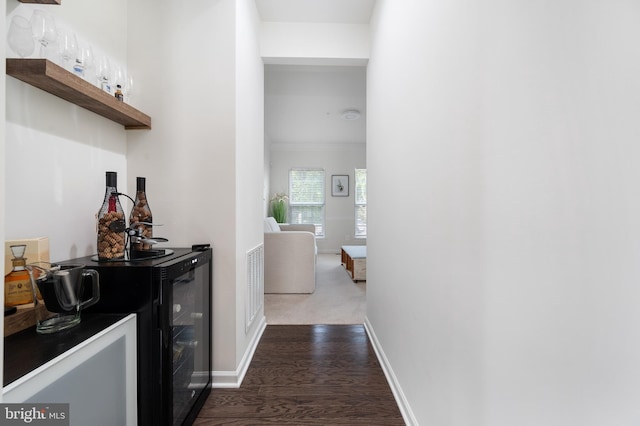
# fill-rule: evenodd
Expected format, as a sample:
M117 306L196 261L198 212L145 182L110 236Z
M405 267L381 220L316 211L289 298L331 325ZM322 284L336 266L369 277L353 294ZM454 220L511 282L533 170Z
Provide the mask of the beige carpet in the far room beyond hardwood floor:
M362 324L365 289L366 282L351 281L340 255L319 254L315 292L264 295L267 324Z

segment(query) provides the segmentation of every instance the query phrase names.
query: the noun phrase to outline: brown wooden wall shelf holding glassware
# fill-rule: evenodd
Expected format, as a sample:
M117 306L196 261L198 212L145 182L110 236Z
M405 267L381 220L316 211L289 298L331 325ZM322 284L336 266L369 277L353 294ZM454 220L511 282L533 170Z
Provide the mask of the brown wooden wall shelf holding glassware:
M151 129L151 117L47 59L7 58L7 75L95 112L125 129Z

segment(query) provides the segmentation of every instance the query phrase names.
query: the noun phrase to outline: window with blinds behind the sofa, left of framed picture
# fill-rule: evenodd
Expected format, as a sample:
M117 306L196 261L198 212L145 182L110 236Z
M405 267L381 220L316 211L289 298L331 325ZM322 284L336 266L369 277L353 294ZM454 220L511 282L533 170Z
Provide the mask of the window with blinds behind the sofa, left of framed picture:
M289 222L313 224L324 237L324 170L289 170Z

